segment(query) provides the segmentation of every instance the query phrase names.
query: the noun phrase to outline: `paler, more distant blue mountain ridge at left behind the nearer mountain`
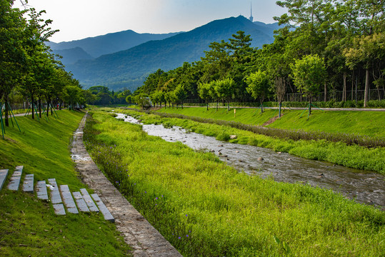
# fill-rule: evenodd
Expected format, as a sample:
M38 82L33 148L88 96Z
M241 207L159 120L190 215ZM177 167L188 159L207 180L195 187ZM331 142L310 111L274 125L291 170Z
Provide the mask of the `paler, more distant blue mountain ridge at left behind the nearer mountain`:
M92 56L92 58L96 58L103 54L112 54L117 51L130 49L131 47L138 46L146 41L166 39L176 34L178 33L139 34L135 31L127 30L69 42L49 42L48 45L52 50L54 50L54 53L58 54L58 50L75 49L80 47L86 51L87 54Z

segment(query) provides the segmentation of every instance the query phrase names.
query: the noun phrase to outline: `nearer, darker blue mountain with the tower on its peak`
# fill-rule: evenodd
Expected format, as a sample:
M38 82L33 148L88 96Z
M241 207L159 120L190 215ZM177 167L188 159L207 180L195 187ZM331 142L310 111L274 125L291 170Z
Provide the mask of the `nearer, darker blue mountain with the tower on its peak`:
M157 69L169 70L184 62L199 61L209 44L229 39L236 31L251 35L251 46L261 47L274 41L277 24L252 23L244 16L211 21L192 31L177 34L160 41L148 41L126 51L100 56L94 60L81 60L67 66L81 84L108 86L118 90L134 91L146 76Z

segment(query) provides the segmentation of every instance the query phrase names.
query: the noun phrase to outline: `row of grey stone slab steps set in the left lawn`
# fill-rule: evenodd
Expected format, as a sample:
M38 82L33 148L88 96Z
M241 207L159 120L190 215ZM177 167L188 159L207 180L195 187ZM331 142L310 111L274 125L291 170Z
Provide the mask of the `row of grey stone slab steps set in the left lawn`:
M11 191L19 191L21 189L21 181L23 175L24 166L17 166L11 178L9 178L8 189ZM9 170L0 170L0 190L3 188L6 178L9 175ZM60 187L56 183L55 178L49 178L49 183L46 181L37 181L36 183L36 196L42 201L50 201L54 211L57 215L66 215L66 211L69 213L78 214L78 208L80 211L99 211L104 215L106 221L114 222L114 217L111 215L109 210L106 208L104 203L101 201L99 196L94 193L89 195L86 188L81 188L81 194L79 192L69 191L69 186L61 185ZM47 191L47 188L49 190ZM26 174L24 176L24 182L22 183L22 190L26 193L34 193L34 174ZM51 193L49 193L49 191ZM72 197L74 195L74 198ZM95 202L97 204L96 207ZM88 208L92 206L93 208Z

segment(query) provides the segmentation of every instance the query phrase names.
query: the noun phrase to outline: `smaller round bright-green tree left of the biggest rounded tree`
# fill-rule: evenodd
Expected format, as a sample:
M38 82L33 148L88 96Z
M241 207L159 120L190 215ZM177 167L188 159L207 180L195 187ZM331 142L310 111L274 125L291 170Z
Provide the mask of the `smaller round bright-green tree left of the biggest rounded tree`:
M254 74L250 74L246 78L246 84L248 85L246 90L251 94L254 99L258 99L261 102L261 112L264 112L264 99L269 94L271 87L269 77L266 75L266 71L257 71Z

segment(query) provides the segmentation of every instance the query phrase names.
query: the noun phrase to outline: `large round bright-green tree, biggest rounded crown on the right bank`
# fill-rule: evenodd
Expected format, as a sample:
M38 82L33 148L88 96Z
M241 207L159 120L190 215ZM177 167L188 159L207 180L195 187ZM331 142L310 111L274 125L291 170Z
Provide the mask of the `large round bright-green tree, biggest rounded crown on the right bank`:
M309 98L311 114L311 98L319 93L326 76L324 60L318 55L307 55L301 60L296 60L295 64L291 65L291 70L297 89Z

